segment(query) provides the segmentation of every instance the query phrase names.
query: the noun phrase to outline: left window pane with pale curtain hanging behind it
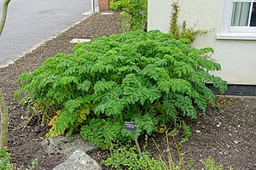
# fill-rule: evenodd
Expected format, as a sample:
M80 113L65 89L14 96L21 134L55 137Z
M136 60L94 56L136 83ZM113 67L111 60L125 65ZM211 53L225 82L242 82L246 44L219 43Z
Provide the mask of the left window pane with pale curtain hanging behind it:
M231 26L247 26L251 3L233 3Z

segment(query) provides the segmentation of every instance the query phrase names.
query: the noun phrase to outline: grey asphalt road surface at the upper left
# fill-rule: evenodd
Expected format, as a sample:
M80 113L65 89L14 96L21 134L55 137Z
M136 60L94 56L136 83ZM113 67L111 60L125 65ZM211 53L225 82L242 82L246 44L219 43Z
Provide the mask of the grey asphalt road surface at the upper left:
M2 16L3 0L0 0ZM0 37L0 67L38 42L82 20L90 0L11 0Z

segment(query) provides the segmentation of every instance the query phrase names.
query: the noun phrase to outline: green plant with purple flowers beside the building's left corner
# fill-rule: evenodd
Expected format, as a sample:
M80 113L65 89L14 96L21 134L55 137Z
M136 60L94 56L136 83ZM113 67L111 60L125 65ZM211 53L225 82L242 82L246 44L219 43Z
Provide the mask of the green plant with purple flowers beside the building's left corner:
M148 0L119 0L110 3L110 8L121 11L125 16L125 31L147 29Z

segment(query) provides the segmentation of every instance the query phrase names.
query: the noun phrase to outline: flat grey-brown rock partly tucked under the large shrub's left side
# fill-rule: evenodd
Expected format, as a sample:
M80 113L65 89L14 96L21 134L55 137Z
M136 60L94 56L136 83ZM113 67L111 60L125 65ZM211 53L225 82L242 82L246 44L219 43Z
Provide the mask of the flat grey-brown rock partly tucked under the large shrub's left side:
M84 152L87 152L96 149L95 145L82 139L79 134L69 137L51 137L49 139L44 139L41 144L49 156L54 156L55 154L70 156L75 150L83 150Z

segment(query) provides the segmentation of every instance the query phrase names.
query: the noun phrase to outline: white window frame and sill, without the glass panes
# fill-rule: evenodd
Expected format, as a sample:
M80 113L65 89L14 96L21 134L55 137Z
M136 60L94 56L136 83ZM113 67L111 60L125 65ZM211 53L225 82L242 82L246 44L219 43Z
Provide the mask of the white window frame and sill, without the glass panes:
M217 39L256 40L256 26L230 26L234 2L256 3L256 0L224 0L222 27Z

